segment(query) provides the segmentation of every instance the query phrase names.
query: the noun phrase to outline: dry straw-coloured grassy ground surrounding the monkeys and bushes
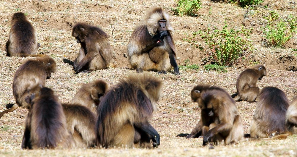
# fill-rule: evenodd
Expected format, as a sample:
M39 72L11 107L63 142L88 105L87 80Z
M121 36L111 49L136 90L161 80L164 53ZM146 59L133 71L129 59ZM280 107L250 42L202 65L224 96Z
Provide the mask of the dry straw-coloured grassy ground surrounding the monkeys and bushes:
M226 20L232 27L240 27L245 9L230 4L202 1L203 8L199 17L171 17L175 28L175 42L179 57L179 64L185 59L190 59L191 64L200 63L205 53L182 40L186 34L205 28L207 24L221 27ZM296 9L291 9L293 4L289 1L269 3L272 9L280 14L293 14ZM5 104L14 103L12 95L12 81L15 70L26 60L21 57L7 57L5 43L9 36L10 19L13 13L20 11L28 14L28 19L37 30L37 38L41 43L40 53L48 54L56 60L58 70L47 80L46 85L58 94L62 102L70 102L82 83L94 79L104 79L110 86L118 79L127 78L135 70L121 68L129 67L126 53L127 41L134 26L141 16L152 6L162 6L168 12L174 2L165 1L0 1L0 111L5 109ZM261 12L265 12L260 10ZM259 14L260 14L259 13ZM171 13L170 13L171 14ZM44 22L47 20L47 22ZM257 17L255 17L257 20ZM78 21L87 21L101 27L110 35L113 46L113 62L117 68L94 71L91 73L74 74L72 67L63 60L74 60L79 49L79 44L71 37L71 26ZM219 21L219 22L218 22ZM111 24L115 27L114 35L122 40L113 40ZM247 26L252 27L252 26ZM255 26L251 40L257 49L249 60L265 64L268 75L258 82L258 86L276 86L283 90L292 100L297 93L296 72L285 71L288 66L297 65L297 57L292 56L292 48L296 48L296 36L284 49L266 48L261 46L261 34L257 31L260 26ZM202 41L199 41L202 43ZM294 46L295 45L295 46ZM292 56L285 60L282 56ZM161 136L161 145L157 149L71 149L71 150L20 150L23 137L26 109L17 109L5 114L0 120L0 156L296 156L297 136L293 135L285 140L271 141L241 141L238 145L217 146L214 150L202 147L202 138L185 139L175 137L181 132L191 132L199 120L200 109L198 104L190 100L189 92L198 83L209 83L225 88L230 94L236 92L236 78L243 70L242 65L227 68L227 73L181 71L180 76L173 74L157 75L156 72L146 72L164 81L162 95L157 104L158 111L151 123ZM242 116L244 133L249 132L249 125L254 114L256 103L238 102L238 111ZM166 113L165 113L166 112Z

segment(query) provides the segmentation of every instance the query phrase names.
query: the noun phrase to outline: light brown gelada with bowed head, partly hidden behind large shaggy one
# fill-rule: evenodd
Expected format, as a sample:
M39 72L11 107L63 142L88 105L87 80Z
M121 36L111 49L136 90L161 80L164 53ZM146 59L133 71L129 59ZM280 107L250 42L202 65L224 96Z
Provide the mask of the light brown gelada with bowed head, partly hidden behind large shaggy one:
M108 91L108 84L104 80L94 80L83 84L72 98L71 103L80 104L88 107L93 113L96 113L100 99Z

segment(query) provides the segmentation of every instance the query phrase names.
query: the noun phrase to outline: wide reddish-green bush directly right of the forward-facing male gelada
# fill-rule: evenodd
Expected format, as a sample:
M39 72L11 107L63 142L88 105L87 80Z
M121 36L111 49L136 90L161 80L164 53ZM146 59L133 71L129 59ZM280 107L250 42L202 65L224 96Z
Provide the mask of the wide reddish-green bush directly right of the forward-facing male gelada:
M208 45L205 51L208 52L217 65L222 66L240 63L252 51L251 42L247 40L252 30L247 30L243 27L240 30L229 30L227 27L228 25L225 22L223 30L218 30L215 27L213 31L213 29L208 27L203 32L193 33L193 38L199 34L204 39L206 45ZM196 41L189 41L196 43ZM201 45L196 47L204 50Z

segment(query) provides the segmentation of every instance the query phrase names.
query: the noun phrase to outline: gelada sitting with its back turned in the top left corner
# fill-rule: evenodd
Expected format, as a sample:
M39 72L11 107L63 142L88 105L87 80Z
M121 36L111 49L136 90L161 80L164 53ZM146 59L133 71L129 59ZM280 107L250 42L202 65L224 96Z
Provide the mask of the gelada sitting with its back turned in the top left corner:
M9 39L6 43L7 56L37 56L35 54L39 46L34 27L25 14L22 12L13 14Z

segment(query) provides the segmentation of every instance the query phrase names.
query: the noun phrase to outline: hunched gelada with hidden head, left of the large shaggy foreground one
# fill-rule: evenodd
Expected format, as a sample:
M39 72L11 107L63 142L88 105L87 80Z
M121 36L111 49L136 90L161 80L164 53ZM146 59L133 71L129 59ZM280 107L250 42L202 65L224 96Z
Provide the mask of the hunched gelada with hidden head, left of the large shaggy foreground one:
M63 103L67 129L72 133L76 146L92 147L95 144L95 114L87 107L78 104Z

